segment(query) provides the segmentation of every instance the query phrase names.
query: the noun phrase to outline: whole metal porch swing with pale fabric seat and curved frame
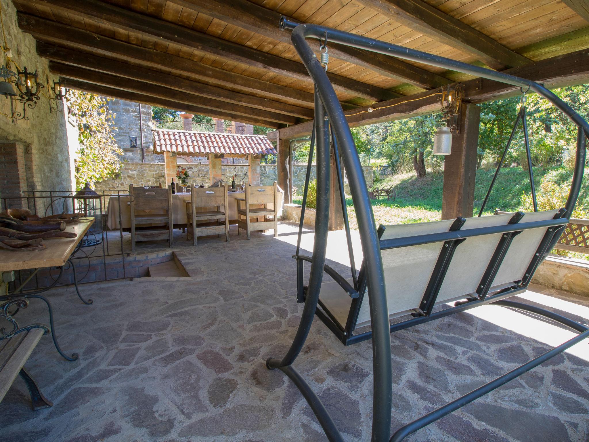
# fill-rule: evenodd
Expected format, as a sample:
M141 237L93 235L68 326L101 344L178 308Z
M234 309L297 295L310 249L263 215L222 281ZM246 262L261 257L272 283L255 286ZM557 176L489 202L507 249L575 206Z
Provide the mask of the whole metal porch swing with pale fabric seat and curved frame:
M586 325L535 306L506 299L526 291L535 270L557 242L573 212L583 179L585 144L589 136L589 124L583 118L542 85L502 72L319 25L299 25L287 21L284 17L280 20L280 29L292 30L293 46L315 83L315 118L309 161L313 156L313 149L316 149L317 208L313 255L299 254L303 222L301 219L296 253L293 256L297 263L297 301L305 303L299 328L286 355L282 359L267 359L266 366L270 370L278 368L294 382L330 441L343 441L343 438L315 392L293 367L293 362L305 344L315 315L345 345L372 339L373 442L384 442L389 438L392 442L400 441L589 337L589 328ZM317 60L305 38L323 39L325 43L322 44L322 48L326 47L329 39L333 43L464 72L542 95L578 127L573 182L565 207L548 212L517 212L468 219L459 217L455 220L429 223L380 226L377 230L352 134L326 75L327 57L322 55L323 64ZM525 109L523 112L524 114L518 118L518 123L522 120L525 126ZM330 138L333 141L336 174L342 196L346 239L352 268L352 275L348 279L325 264L329 224ZM530 159L529 143L527 143L527 149L528 159ZM340 157L350 184L362 244L363 262L358 274L353 259L345 208L342 170L339 166ZM307 168L307 183L309 174L310 167ZM533 177L530 178L533 184ZM532 193L535 194L535 191ZM306 200L306 196L307 184L303 200ZM305 201L302 209L305 210ZM303 216L304 213L301 218ZM305 261L311 264L307 285L303 279ZM414 264L417 262L415 268L419 268L420 272L418 274L406 272L408 262ZM468 269L468 275L465 275L465 268ZM331 276L334 281L323 283L323 272ZM406 275L412 275L411 281L406 278ZM365 296L366 293L368 296ZM368 302L363 302L366 298ZM453 301L457 302L451 308L434 309L438 304ZM515 370L404 425L391 436L393 394L391 333L491 303L544 316L573 329L578 332L578 335ZM391 318L403 315L412 316L392 325L389 322ZM356 326L368 324L370 331L353 334Z

